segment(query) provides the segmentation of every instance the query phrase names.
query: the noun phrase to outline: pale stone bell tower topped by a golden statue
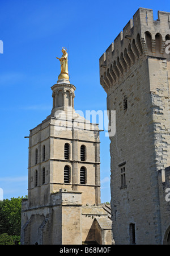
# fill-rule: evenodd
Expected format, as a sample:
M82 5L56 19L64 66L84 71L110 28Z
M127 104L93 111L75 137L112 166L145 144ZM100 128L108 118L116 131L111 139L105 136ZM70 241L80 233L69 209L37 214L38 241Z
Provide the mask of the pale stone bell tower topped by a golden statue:
M21 243L112 243L111 220L100 204L100 130L74 110L76 88L62 53L52 112L29 134Z

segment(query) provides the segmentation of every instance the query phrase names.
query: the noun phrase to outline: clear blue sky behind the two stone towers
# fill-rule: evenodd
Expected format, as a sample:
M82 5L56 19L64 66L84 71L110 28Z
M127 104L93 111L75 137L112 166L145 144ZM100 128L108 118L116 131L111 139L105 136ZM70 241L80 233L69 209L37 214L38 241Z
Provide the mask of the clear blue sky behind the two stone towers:
M99 58L139 7L170 11L169 1L1 0L0 110L3 197L27 195L29 130L52 109L61 48L69 51L75 110L107 110ZM101 202L110 201L109 138L100 134Z

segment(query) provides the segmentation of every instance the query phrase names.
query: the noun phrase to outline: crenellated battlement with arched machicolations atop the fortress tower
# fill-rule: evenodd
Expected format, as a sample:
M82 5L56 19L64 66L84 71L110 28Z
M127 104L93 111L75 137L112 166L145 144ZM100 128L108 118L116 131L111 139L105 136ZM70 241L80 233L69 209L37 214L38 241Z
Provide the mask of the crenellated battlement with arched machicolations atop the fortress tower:
M170 39L170 13L139 8L123 31L100 57L100 84L106 92L141 56L170 59L165 41Z

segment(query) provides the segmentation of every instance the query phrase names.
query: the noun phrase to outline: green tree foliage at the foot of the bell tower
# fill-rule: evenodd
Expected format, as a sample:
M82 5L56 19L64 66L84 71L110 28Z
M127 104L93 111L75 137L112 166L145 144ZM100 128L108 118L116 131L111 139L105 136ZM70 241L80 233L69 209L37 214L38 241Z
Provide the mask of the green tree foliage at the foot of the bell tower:
M11 200L0 201L0 234L20 236L22 199L26 197L12 197Z

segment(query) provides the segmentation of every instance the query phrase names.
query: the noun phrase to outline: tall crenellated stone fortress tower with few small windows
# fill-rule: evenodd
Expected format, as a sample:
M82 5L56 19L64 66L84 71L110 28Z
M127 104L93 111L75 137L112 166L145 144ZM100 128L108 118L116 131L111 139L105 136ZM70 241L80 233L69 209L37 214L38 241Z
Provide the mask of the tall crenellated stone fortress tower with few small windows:
M139 8L100 57L111 139L112 230L116 244L169 243L170 13ZM111 115L109 117L111 123Z

